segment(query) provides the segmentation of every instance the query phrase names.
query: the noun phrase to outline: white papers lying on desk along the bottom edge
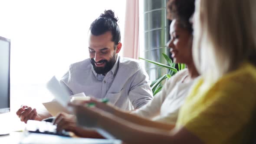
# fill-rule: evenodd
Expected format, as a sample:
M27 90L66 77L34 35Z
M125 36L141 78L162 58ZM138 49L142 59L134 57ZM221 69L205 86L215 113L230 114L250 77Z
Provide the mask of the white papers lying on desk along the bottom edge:
M120 140L62 137L51 134L31 133L20 144L121 144Z

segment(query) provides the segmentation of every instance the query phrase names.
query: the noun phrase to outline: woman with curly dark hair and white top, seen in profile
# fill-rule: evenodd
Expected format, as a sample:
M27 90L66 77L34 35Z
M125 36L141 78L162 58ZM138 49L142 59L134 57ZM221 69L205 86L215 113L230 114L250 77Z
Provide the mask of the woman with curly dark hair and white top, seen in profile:
M167 47L170 48L174 62L186 64L187 69L177 72L168 79L164 88L151 102L133 111L132 114L165 124L176 123L179 109L198 76L192 58L193 30L189 22L195 10L194 3L195 0L170 0L167 3L167 18L172 20L171 39Z

